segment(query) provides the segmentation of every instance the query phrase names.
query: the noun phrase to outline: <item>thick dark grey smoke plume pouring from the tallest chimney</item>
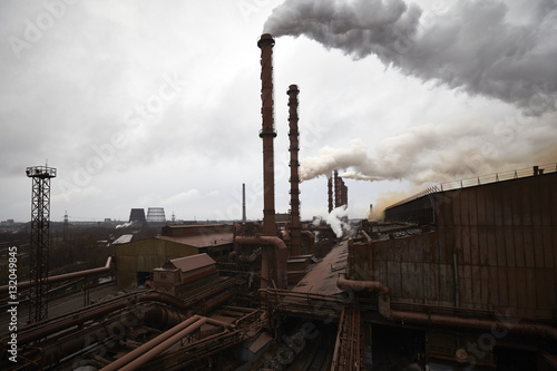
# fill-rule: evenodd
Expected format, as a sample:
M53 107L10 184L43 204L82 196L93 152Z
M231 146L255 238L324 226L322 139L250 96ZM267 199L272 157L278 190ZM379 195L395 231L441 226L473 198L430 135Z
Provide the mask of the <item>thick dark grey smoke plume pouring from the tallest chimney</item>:
M500 0L458 1L424 12L402 0L286 0L264 31L305 36L354 59L375 55L422 80L515 105L528 115L555 110L557 1L512 22Z

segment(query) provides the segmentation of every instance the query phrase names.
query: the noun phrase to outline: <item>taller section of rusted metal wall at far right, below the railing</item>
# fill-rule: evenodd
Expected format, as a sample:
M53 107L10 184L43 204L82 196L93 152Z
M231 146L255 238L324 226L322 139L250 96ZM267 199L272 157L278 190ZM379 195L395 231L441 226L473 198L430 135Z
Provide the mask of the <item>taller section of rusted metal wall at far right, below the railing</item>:
M439 245L455 251L460 306L557 319L557 174L436 195Z

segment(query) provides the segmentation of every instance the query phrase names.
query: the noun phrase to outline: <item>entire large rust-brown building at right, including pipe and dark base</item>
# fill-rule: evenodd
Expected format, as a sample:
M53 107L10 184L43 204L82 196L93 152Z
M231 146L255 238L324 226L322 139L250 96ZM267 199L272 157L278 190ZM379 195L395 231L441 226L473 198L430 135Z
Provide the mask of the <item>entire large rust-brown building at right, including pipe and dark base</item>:
M429 359L556 368L556 189L557 172L534 172L419 195L388 208L383 230L362 223L348 276L381 313L359 307L364 329L402 325Z

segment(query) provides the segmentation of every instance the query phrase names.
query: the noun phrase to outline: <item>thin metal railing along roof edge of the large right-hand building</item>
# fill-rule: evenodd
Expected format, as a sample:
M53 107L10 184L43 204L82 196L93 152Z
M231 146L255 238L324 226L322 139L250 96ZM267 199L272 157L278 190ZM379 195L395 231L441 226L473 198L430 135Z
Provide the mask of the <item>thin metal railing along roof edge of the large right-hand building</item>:
M428 188L426 188L426 189L423 189L423 191L421 191L421 192L419 192L419 193L417 193L408 198L404 198L404 199L402 199L393 205L390 205L390 206L385 207L385 209L389 209L389 208L405 204L408 202L418 199L420 197L431 195L434 193L439 193L439 192L473 187L473 186L478 186L478 185L482 185L482 184L490 184L490 183L497 183L497 182L502 182L502 180L525 178L525 177L529 177L529 176L544 175L544 174L548 174L548 173L557 173L557 163L532 166L532 167L521 168L521 169L517 169L517 170L491 173L491 174L480 175L480 176L472 177L472 178L439 183L439 184L432 185L432 186L430 186L430 187L428 187Z

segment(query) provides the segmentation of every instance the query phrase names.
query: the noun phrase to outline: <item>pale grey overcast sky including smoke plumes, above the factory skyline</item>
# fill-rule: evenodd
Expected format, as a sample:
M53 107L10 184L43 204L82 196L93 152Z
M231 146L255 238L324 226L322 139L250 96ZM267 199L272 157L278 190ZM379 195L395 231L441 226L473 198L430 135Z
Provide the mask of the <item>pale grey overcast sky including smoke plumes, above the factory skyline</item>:
M556 1L383 2L2 0L0 219L30 219L25 170L47 160L52 221L241 218L242 183L261 218L264 30L280 213L291 84L303 218L326 214L331 166L374 179L345 180L365 217L433 183L557 162Z

